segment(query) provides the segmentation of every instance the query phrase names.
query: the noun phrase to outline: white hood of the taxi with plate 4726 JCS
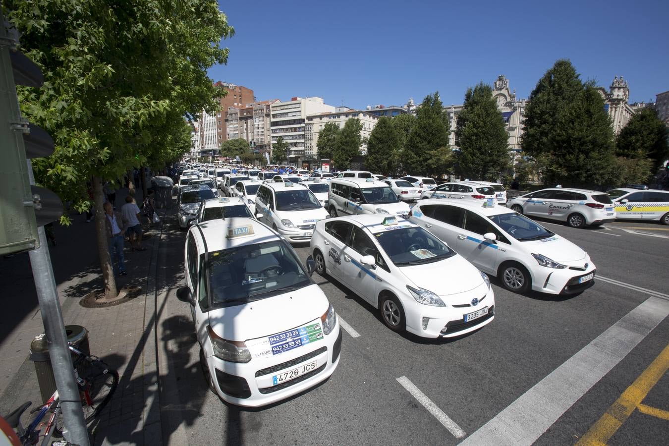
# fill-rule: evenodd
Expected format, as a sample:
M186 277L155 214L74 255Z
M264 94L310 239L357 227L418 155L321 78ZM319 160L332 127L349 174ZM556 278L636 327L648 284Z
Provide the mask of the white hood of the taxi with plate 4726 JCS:
M318 285L312 284L279 296L211 310L209 325L221 338L246 341L319 319L328 306L328 300Z

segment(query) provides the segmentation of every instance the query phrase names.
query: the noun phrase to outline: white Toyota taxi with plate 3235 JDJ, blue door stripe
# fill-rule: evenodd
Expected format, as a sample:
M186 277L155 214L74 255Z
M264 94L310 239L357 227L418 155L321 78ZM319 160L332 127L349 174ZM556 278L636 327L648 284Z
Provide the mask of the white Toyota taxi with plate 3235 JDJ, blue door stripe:
M488 276L409 221L377 214L319 221L310 249L316 271L377 308L391 330L448 338L494 318Z

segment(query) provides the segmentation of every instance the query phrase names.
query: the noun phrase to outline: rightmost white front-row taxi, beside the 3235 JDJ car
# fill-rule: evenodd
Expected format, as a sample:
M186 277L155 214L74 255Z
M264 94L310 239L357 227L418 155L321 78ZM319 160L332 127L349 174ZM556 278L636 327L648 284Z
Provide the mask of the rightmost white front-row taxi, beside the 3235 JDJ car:
M512 292L578 294L594 284L595 265L583 249L507 207L422 200L409 221Z

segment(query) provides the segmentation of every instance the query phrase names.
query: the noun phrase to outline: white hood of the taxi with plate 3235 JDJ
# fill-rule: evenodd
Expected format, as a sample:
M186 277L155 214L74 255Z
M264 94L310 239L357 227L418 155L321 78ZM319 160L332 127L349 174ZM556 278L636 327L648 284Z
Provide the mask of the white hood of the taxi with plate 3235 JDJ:
M464 293L480 286L488 289L478 269L459 254L434 263L399 269L415 286L425 288L437 296Z

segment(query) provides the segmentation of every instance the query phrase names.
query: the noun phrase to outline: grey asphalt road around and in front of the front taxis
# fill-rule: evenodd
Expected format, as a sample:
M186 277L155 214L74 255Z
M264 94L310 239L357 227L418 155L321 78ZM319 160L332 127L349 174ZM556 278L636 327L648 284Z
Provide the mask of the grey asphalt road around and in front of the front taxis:
M164 277L158 284L166 288L158 330L163 439L201 445L566 445L589 433L608 435L613 445L666 444L669 227L541 223L589 252L597 266L595 286L570 298L521 296L493 279L492 323L454 340L423 340L391 332L377 310L314 274L359 336L344 333L341 362L329 380L252 411L221 402L203 380L189 309L175 296L183 282L184 236L173 223L159 255ZM296 251L303 260L309 255L308 245ZM620 415L630 404L620 399L630 386L626 395L641 395L637 403L655 409L644 409L652 415L638 405ZM617 429L595 425L607 411L622 421Z

